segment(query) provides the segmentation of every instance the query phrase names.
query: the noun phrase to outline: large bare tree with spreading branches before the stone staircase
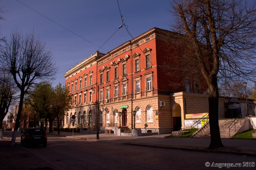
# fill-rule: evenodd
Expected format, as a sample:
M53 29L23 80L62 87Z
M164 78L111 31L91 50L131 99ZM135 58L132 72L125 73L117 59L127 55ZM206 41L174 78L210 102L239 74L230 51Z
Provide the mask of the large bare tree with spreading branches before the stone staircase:
M222 147L218 82L255 81L255 4L243 0L172 0L170 5L176 17L171 29L177 32L171 44L208 85L209 148Z

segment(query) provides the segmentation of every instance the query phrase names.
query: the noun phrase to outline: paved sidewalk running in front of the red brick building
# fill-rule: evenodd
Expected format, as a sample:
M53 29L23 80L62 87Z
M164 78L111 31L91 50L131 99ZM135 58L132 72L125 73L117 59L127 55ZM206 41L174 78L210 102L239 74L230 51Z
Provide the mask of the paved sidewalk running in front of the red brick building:
M54 134L49 135L57 135L57 133L58 132L54 131ZM211 142L210 138L165 138L165 136L168 136L168 134L138 137L117 136L114 134L99 134L99 140L97 140L96 134L74 133L74 136L72 136L72 132L60 132L60 135L78 140L91 140L145 147L158 147L186 151L212 152L256 157L256 140L222 139L222 144L225 147L217 148L215 150L208 150L208 146Z

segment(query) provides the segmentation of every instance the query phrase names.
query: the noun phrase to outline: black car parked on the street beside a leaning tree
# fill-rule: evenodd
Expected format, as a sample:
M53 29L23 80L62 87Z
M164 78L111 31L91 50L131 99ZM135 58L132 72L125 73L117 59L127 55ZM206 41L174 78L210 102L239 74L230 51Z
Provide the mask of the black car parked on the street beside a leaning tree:
M27 147L29 144L43 144L43 147L47 146L47 135L43 128L26 128L21 132L20 145Z

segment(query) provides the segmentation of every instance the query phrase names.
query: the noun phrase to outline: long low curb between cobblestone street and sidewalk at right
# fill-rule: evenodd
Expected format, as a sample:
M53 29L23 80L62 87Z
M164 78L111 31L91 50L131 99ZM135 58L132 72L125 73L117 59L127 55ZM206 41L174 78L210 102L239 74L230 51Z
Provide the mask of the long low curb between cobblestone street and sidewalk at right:
M256 154L245 153L245 152L230 152L230 151L216 151L216 150L204 150L204 149L194 149L194 148L181 148L181 147L170 147L170 146L159 146L159 145L150 145L150 144L138 144L138 143L122 143L133 146L144 146L144 147L154 147L162 149L174 149L182 151L193 151L193 152L204 152L204 153L217 153L217 154L231 154L231 155L246 155L249 157L256 157Z

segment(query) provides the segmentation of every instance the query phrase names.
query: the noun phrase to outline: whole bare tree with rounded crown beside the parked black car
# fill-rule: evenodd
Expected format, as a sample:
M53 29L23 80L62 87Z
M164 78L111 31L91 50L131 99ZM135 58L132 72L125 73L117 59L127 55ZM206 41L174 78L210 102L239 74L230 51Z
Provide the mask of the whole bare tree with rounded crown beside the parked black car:
M57 73L58 67L53 60L52 52L45 46L46 43L36 37L34 31L23 37L21 31L14 30L10 34L10 39L1 47L0 67L12 75L20 90L11 146L15 145L25 94L38 81L53 79Z

